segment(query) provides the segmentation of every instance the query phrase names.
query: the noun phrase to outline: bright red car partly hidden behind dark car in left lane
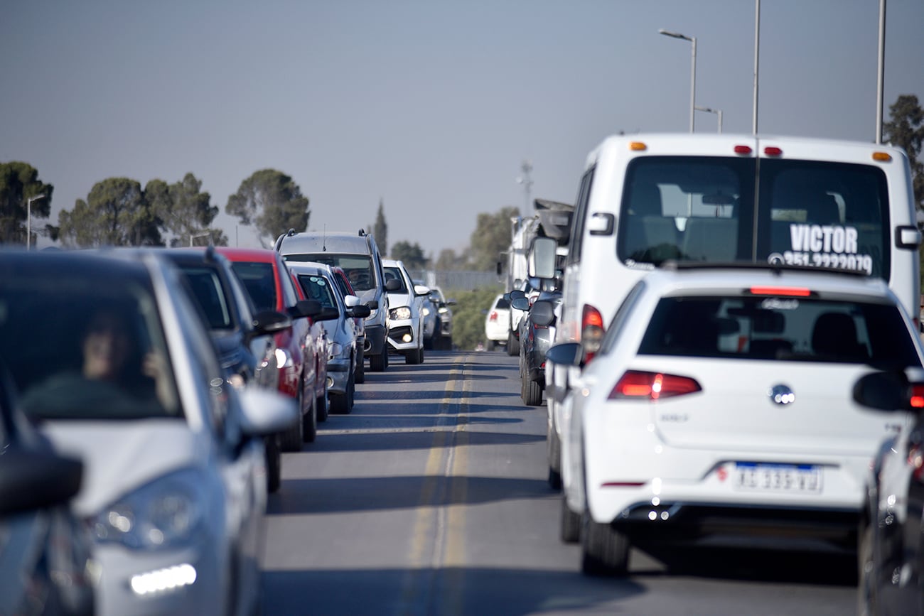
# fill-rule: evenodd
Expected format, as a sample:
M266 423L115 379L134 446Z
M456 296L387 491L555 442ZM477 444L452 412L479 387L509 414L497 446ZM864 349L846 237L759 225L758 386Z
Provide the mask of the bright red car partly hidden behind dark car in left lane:
M327 410L327 354L324 350L318 352L310 317L318 316L319 308L314 302L299 299L286 263L275 250L226 247L215 250L231 261L258 311L278 310L292 317L291 329L276 333L275 343L279 391L297 399L302 413L302 421L282 435L283 451L297 452L302 442L314 441L319 416ZM324 369L319 375L321 364Z

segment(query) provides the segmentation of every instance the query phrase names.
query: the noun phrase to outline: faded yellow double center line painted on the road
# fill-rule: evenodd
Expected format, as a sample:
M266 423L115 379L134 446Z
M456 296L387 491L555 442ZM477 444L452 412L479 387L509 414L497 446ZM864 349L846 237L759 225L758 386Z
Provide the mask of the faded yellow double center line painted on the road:
M471 391L471 380L464 378L465 360L456 357L450 369L424 468L402 593L407 613L465 613L466 427Z

